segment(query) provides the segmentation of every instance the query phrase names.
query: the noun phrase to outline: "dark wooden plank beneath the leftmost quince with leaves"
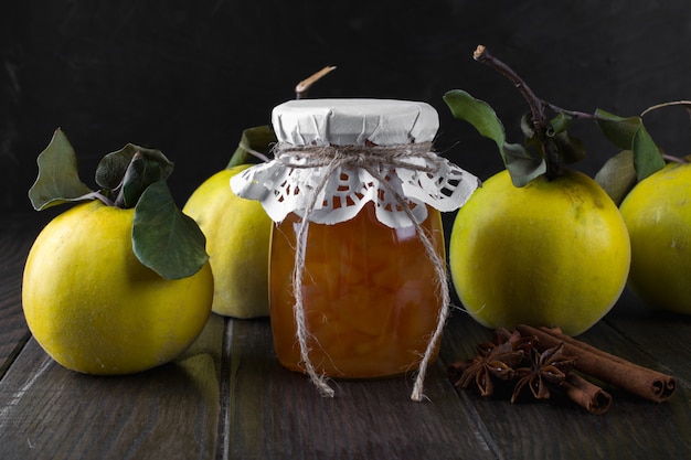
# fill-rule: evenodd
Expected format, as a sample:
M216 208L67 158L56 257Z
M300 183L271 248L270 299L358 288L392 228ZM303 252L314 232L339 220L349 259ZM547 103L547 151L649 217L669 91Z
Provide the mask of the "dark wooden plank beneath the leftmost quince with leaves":
M210 459L224 320L174 363L128 376L65 370L32 339L0 382L0 458Z

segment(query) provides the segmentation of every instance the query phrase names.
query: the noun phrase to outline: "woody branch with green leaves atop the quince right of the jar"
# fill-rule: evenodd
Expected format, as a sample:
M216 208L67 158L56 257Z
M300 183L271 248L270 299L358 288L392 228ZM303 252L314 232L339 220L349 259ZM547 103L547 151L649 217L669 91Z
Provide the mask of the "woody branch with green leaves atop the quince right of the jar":
M486 101L460 89L446 93L444 100L456 118L469 122L480 135L495 141L515 186L524 186L539 175L552 180L561 174L564 164L585 158L583 143L568 133L574 119L594 120L605 137L623 149L615 157L617 160L609 163L598 178L615 202L620 201L621 193L628 191L631 182L640 181L665 165L665 158L646 130L641 116L619 117L603 109L587 114L561 108L541 99L513 68L485 46L476 49L474 58L506 76L528 103L530 111L521 119L523 143L507 142L503 125ZM553 118L548 117L548 110L555 114Z

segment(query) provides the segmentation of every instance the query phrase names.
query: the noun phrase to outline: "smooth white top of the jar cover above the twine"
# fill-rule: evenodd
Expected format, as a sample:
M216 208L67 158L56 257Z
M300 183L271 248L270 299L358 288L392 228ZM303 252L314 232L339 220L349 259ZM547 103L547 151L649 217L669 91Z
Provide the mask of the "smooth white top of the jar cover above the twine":
M394 99L296 99L274 108L280 142L294 146L378 146L430 142L439 116L429 104Z

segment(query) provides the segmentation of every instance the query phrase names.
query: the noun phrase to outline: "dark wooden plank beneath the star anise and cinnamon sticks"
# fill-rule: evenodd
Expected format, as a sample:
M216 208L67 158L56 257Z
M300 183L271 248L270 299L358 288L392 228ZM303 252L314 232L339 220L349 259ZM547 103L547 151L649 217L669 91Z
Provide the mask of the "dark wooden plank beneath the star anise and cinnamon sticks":
M447 328L442 357L448 362L471 357L475 343L490 336L490 330L457 314ZM655 365L651 355L631 346L632 339L606 321L580 339L640 364ZM655 356L674 354L670 346L660 344ZM678 394L665 404L612 391L613 406L600 416L589 415L559 396L546 403L512 405L506 398L482 398L472 391L459 393L493 437L498 458L685 458L691 452L688 382L680 382Z

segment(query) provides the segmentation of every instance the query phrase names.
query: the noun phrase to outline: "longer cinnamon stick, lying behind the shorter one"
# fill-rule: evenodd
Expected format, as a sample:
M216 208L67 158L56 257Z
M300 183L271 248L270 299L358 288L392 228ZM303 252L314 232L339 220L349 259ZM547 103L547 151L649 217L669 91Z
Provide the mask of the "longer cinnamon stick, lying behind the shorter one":
M563 342L564 353L577 356L577 371L634 395L662 403L674 393L677 382L670 375L639 366L549 328L519 324L515 329L521 335L536 336L541 347Z

